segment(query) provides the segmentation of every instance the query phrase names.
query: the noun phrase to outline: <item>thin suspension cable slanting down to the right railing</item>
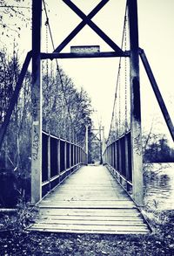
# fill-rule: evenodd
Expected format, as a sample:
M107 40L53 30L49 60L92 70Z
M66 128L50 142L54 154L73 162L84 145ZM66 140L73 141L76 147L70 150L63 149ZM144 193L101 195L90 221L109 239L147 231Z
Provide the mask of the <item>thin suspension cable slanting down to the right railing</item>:
M122 44L121 44L121 49L123 50L124 47L124 31L126 28L126 23L127 23L127 3L125 6L125 13L124 13L124 29L123 29L123 35L122 35ZM126 57L125 57L126 58ZM117 83L116 83L116 91L115 91L115 97L114 97L114 103L113 103L113 109L112 109L112 114L111 114L111 121L110 121L110 132L108 136L107 142L110 140L110 133L111 133L111 127L112 127L112 121L114 119L114 112L115 112L115 106L116 106L116 100L117 100L117 88L119 84L119 76L120 76L120 70L121 70L121 59L122 57L119 58L119 64L118 64L118 71L117 71Z

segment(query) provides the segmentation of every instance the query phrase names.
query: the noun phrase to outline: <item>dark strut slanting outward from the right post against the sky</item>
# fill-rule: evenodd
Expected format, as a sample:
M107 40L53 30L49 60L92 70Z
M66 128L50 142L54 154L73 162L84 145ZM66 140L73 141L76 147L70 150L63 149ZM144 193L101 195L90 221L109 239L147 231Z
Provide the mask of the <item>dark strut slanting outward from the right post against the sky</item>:
M161 112L162 112L162 114L164 116L164 121L166 122L166 125L167 125L167 127L168 127L168 129L170 131L170 134L171 134L171 138L174 141L174 127L173 127L173 123L171 121L171 116L170 116L170 114L169 114L169 112L167 110L167 107L165 106L163 97L162 97L162 95L161 95L161 93L159 91L159 88L157 86L157 82L156 82L155 77L154 77L154 75L152 73L149 61L148 61L148 59L147 59L143 49L140 49L139 54L140 54L141 60L142 60L142 62L144 64L144 69L145 69L145 71L147 73L147 76L148 76L150 82L151 82L151 86L152 86L153 92L156 95L157 102L159 104Z

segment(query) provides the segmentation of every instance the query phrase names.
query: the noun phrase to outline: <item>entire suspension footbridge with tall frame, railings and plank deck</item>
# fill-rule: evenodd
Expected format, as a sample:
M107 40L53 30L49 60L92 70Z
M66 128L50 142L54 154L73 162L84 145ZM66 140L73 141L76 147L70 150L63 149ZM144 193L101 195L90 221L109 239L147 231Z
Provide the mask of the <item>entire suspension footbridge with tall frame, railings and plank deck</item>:
M3 143L12 110L32 60L32 125L31 125L31 204L37 205L38 215L31 231L86 233L147 233L150 228L141 213L144 206L144 180L141 138L141 99L139 57L151 82L164 120L174 138L174 128L164 100L151 71L148 59L138 45L137 0L125 6L122 45L118 46L92 21L109 0L100 1L85 15L70 0L63 2L73 10L81 22L64 41L55 47L51 33L47 5L32 1L32 51L27 54L16 89L4 118L0 143ZM42 10L46 18L46 35L50 35L53 52L41 51ZM129 26L128 26L129 24ZM85 25L110 46L112 52L100 52L97 45L73 46L71 52L61 52ZM48 50L48 49L47 49ZM64 91L64 80L57 59L118 58L117 85L111 114L110 133L104 139L92 132L84 120L83 133L73 128L73 116ZM62 86L69 125L64 121L64 136L51 130L43 131L42 66L43 60L56 60L56 72ZM46 62L48 66L48 62ZM124 76L124 79L123 79ZM99 96L99 93L98 93ZM79 110L80 111L80 110ZM94 128L93 128L94 129ZM100 164L89 163L90 139L96 138L100 147Z

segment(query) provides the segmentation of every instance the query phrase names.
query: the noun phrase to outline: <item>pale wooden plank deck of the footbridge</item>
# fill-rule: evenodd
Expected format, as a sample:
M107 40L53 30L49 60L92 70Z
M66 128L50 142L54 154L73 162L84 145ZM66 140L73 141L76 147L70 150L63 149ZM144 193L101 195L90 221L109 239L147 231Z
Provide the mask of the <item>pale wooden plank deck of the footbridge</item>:
M38 205L31 231L147 233L148 226L131 198L104 166L85 166Z

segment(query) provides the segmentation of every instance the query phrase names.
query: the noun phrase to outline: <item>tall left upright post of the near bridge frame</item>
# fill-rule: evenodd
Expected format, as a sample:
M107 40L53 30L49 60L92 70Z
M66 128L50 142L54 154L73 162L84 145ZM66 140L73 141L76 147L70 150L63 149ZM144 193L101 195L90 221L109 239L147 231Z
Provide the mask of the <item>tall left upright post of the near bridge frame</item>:
M31 203L42 197L42 86L41 86L42 0L32 1L32 128L31 128Z

